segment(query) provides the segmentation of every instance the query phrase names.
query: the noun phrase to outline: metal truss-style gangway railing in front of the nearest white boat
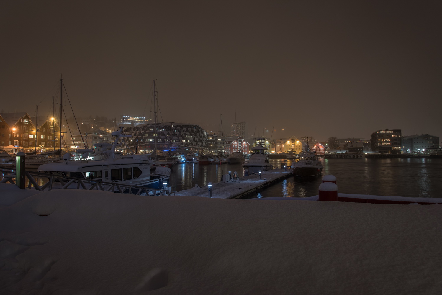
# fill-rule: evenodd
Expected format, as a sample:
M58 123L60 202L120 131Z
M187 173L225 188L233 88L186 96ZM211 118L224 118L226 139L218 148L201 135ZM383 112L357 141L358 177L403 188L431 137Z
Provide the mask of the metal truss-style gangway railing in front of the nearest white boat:
M37 189L39 191L46 191L52 189L88 189L88 190L103 190L114 193L130 193L134 195L146 194L150 195L175 195L176 191L168 189L151 189L137 185L126 185L114 182L103 182L84 178L75 178L62 175L53 175L42 172L25 171L25 176L28 179L28 189ZM15 184L15 169L0 168L0 183ZM48 181L43 185L38 185L38 178L47 178ZM37 180L36 180L37 179ZM55 185L54 185L55 184ZM73 187L76 186L76 187Z

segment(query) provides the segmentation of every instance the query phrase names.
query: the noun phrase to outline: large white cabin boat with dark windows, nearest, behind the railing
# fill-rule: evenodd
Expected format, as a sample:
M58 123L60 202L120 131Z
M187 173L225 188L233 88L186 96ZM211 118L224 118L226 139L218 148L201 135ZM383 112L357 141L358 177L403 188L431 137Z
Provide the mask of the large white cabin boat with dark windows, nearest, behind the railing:
M120 131L112 132L115 142L110 150L95 152L99 160L71 161L66 154L64 161L43 164L38 167L39 172L62 176L87 178L102 182L112 182L125 185L136 185L153 189L160 189L170 176L170 168L158 167L154 173L150 172L153 161L146 155L121 155L115 153L118 140L124 135Z

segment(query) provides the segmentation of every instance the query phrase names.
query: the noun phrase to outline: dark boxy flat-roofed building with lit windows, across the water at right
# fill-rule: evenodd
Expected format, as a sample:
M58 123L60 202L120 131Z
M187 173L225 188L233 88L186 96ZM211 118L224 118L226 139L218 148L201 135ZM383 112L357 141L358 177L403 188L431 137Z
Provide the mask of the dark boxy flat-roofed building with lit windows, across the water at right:
M370 136L371 150L380 154L400 154L401 137L401 129L377 130Z

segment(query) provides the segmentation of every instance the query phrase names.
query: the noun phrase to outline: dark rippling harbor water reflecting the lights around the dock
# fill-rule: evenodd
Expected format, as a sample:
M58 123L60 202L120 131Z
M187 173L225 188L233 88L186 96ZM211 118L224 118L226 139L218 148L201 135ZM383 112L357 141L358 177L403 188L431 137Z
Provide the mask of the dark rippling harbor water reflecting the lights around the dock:
M271 159L274 167L290 167L290 159ZM442 197L442 159L320 159L322 176L337 178L339 193L400 197ZM172 167L172 190L191 189L196 184L216 183L235 171L244 176L241 164L177 164ZM263 174L264 175L264 174ZM264 176L263 176L264 177ZM318 194L321 176L300 179L290 176L248 195L255 197L311 197Z

